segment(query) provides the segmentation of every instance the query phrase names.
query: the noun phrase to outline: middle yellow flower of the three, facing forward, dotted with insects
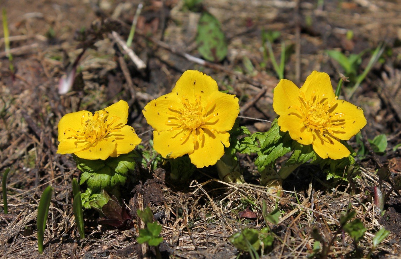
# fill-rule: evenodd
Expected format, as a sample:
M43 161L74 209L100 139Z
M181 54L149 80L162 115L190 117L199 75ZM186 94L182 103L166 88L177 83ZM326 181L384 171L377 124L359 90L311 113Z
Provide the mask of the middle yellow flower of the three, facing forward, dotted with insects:
M154 149L166 158L189 154L201 168L216 164L228 147L239 113L238 98L219 92L213 78L187 70L171 93L150 101L142 111L154 128ZM223 146L224 145L224 146Z

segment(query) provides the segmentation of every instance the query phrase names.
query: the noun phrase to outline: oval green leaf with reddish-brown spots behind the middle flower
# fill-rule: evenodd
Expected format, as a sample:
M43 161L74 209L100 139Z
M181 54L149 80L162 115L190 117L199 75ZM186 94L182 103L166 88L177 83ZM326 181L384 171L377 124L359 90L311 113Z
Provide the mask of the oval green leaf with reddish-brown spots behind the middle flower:
M203 12L198 23L196 35L198 51L204 59L220 62L227 56L227 41L219 20L209 12Z

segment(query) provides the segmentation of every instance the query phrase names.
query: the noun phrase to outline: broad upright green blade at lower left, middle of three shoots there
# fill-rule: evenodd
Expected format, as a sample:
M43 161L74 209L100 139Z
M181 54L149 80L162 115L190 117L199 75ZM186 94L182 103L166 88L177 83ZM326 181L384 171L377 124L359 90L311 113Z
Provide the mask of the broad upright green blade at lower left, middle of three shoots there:
M41 200L39 201L38 216L36 218L39 253L43 253L43 235L45 234L47 215L49 214L49 206L50 206L52 194L53 194L53 187L51 187L51 185L49 185L43 191Z

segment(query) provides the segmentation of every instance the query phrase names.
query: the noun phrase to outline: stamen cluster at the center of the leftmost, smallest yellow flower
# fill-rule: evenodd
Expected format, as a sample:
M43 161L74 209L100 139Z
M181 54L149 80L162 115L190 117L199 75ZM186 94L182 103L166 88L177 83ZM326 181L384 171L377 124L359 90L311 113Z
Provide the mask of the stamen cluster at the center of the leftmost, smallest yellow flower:
M82 114L81 117L81 125L82 128L80 130L75 131L74 129L66 129L66 132L72 132L71 137L76 140L87 141L91 144L95 143L97 140L101 140L107 136L107 134L111 132L121 132L122 126L113 125L119 117L112 116L109 119L106 119L108 112L106 110L102 110L100 112L95 112L93 114L92 119L85 119L85 113Z

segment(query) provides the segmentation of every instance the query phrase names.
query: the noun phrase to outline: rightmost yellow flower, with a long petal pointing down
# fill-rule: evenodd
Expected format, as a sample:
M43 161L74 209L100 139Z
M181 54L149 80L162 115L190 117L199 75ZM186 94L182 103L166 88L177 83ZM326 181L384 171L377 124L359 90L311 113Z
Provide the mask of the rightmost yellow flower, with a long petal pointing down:
M317 71L301 88L282 79L274 89L273 109L280 115L277 123L281 131L288 131L300 144L312 144L321 158L349 156L339 140L349 140L366 125L362 109L337 100L330 77Z

